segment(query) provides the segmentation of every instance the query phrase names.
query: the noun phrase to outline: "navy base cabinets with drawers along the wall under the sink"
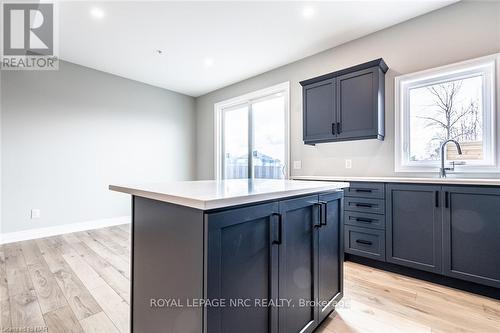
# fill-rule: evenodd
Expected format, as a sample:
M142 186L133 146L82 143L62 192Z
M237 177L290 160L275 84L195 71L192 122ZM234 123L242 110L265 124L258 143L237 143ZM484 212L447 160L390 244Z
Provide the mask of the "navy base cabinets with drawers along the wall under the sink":
M345 196L345 253L500 288L500 188L351 182Z

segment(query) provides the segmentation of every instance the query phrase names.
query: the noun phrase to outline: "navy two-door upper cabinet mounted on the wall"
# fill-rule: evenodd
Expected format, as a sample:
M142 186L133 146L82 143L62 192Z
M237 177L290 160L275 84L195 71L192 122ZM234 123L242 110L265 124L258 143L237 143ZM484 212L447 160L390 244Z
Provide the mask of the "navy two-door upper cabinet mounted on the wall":
M384 139L383 59L300 82L306 144Z

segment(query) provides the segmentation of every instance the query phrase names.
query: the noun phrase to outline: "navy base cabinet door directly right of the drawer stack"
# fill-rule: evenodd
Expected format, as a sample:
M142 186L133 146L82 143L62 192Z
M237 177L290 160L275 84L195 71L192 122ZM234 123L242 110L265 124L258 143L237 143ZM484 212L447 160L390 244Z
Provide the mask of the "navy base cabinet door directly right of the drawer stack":
M387 185L388 262L441 272L440 190L434 185Z

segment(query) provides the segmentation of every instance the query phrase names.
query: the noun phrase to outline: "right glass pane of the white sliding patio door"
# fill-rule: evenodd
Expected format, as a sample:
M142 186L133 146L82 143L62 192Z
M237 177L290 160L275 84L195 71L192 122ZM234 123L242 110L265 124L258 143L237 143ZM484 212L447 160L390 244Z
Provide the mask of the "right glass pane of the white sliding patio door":
M252 104L254 178L282 179L285 166L285 98Z

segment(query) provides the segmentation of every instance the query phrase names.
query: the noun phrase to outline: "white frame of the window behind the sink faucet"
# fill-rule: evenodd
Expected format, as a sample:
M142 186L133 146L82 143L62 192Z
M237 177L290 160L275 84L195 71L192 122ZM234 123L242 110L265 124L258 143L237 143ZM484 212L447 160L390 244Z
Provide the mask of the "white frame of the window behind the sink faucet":
M484 161L467 161L455 167L457 173L500 172L498 158L500 145L497 143L498 117L496 105L500 77L500 54L471 59L395 78L395 172L437 172L440 161L411 161L410 142L410 89L465 79L481 75L483 80L483 144ZM486 138L486 140L484 140Z

